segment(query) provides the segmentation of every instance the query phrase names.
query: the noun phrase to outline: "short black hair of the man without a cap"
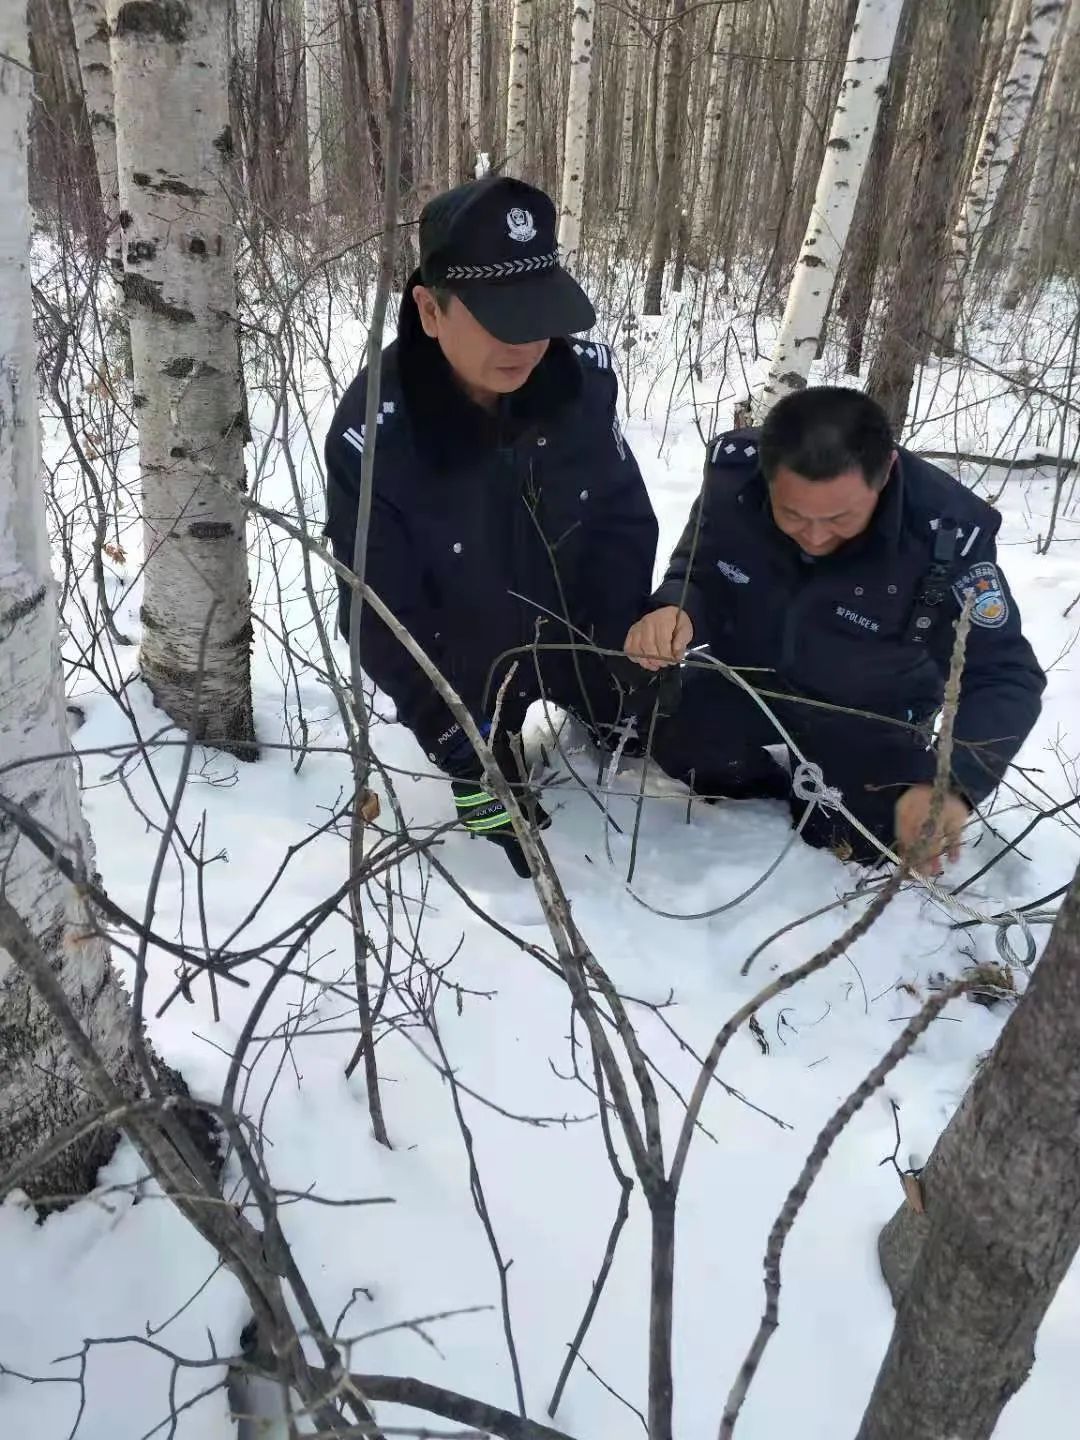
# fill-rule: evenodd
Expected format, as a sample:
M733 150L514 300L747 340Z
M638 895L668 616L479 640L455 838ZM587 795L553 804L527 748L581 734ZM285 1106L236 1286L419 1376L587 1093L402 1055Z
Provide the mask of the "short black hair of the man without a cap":
M785 395L769 410L757 442L766 480L780 465L805 480L861 469L871 490L884 485L894 449L881 406L861 390L829 384Z

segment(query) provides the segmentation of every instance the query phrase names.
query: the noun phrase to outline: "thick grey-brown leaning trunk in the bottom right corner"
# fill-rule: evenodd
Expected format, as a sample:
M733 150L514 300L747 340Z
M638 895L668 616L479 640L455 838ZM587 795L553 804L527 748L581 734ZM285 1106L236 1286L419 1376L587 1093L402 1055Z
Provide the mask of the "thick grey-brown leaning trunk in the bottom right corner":
M896 1328L857 1440L989 1440L1080 1250L1080 871L1031 985L881 1234Z

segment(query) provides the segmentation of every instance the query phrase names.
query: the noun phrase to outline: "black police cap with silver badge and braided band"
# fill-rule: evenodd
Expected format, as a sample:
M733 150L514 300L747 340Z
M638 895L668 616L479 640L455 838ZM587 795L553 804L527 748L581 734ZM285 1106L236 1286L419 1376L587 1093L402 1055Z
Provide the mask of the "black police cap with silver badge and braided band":
M511 346L596 324L588 295L559 264L554 206L510 176L471 180L425 204L420 278L452 291Z

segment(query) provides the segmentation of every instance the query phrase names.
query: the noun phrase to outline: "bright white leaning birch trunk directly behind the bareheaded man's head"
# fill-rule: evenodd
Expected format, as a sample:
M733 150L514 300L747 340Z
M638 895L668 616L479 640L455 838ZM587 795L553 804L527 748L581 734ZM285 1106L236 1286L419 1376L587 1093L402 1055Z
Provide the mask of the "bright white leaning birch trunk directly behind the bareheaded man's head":
M901 0L860 0L814 207L755 420L806 384L874 140L901 7Z

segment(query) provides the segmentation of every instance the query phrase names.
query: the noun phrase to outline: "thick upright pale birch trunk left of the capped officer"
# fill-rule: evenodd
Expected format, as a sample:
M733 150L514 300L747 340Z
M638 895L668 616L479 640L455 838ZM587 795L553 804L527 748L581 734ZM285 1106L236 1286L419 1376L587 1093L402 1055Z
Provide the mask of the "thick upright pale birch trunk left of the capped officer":
M109 24L143 472L143 677L179 726L253 759L226 7L109 0Z

